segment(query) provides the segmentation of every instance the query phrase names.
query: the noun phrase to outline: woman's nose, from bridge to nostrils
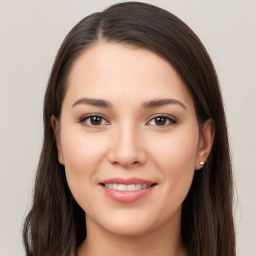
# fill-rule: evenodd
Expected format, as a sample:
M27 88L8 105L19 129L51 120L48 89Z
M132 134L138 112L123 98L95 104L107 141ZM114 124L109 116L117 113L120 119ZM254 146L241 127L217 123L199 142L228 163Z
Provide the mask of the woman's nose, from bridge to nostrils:
M143 140L136 128L126 125L113 131L108 160L112 164L126 168L145 163L146 152Z

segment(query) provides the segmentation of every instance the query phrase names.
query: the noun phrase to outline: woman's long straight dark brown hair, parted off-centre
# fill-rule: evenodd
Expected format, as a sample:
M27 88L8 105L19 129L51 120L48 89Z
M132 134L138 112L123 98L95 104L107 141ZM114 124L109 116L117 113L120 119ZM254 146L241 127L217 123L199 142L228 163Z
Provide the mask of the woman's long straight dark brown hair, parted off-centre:
M199 127L212 118L215 138L183 201L181 235L189 256L234 256L233 182L225 113L213 64L195 33L175 15L141 2L111 5L79 21L57 53L44 98L44 137L31 209L24 221L26 255L76 253L86 237L85 213L59 164L51 115L58 119L73 61L96 42L131 44L167 59L182 77Z

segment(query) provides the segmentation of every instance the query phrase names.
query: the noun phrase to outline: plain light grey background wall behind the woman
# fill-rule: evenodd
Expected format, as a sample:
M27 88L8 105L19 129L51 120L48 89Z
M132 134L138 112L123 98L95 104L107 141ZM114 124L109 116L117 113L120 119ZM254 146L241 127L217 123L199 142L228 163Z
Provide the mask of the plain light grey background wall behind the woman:
M109 0L0 0L0 256L24 255L21 223L42 138L42 100L70 28ZM238 255L256 255L256 0L147 0L185 21L215 64L237 186Z

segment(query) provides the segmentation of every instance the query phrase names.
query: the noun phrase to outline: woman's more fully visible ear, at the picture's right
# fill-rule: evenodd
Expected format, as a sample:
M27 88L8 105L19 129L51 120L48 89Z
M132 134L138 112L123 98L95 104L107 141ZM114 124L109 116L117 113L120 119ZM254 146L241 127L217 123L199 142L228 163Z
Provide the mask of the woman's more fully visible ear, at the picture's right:
M199 136L197 154L195 157L194 169L198 170L202 168L200 162L205 162L210 154L211 147L214 140L215 124L213 119L207 119L202 126L202 130Z

